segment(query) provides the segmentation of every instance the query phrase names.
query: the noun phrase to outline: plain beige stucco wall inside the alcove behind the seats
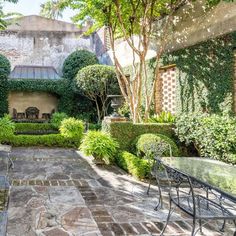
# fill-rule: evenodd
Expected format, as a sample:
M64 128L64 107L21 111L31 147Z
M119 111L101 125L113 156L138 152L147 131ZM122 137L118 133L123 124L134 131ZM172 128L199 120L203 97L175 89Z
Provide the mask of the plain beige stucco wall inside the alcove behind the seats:
M10 92L8 101L11 116L13 108L17 112L25 112L28 107L37 107L40 111L39 118L42 118L42 113L51 113L53 109L57 110L58 105L58 98L45 92Z

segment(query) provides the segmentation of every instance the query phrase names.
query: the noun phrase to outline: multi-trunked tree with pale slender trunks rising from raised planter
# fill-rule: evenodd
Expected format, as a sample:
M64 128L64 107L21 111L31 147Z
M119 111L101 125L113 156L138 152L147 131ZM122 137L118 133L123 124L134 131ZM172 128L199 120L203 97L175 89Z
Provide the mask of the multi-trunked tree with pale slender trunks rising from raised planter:
M60 7L79 10L75 22L93 20L90 31L106 26L109 31L113 60L122 94L129 104L133 122L141 121L141 104L145 100L145 120L153 103L156 81L159 79L161 57L170 42L175 15L183 5L194 0L60 0ZM208 8L220 0L207 0ZM199 4L199 3L197 3ZM205 9L205 6L203 6ZM191 14L186 11L185 14ZM117 58L115 39L123 38L133 53L133 73L126 76ZM136 40L136 38L138 40ZM150 46L156 50L155 75L148 85L146 58ZM137 63L138 62L138 63Z

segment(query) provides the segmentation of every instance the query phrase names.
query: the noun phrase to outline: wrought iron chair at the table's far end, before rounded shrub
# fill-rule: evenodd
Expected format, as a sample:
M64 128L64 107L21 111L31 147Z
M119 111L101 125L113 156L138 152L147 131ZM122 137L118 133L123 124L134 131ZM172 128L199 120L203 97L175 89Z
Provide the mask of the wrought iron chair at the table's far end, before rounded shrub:
M169 156L172 157L172 149L171 145L168 144L165 141L160 141L157 144L151 144L149 147L147 147L147 150L149 150L149 153L146 155L146 159L149 162L149 165L151 166L151 170L149 173L149 185L147 189L147 195L149 195L150 188L151 188L151 182L153 177L156 179L157 187L158 187L158 203L156 207L154 208L157 210L159 206L162 208L163 201L162 201L162 193L161 193L161 185L160 185L160 179L163 178L163 170L159 168L159 165L157 165L156 161L163 156L164 153L168 152ZM155 158L154 158L155 157Z

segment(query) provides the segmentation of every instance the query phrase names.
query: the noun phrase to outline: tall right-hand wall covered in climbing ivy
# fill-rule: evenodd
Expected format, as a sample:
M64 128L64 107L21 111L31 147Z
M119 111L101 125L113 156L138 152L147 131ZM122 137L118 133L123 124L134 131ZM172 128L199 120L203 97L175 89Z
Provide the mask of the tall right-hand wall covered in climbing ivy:
M236 32L167 53L162 65L176 64L176 111L219 113L233 109L234 50ZM155 59L147 62L153 81ZM124 68L132 74L132 67Z

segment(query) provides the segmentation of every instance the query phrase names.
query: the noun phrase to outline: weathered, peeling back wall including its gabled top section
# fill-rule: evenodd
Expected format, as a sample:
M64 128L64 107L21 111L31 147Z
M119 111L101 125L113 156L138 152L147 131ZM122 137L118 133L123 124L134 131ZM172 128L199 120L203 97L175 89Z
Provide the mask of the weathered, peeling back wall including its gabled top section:
M26 16L0 32L0 53L10 60L12 69L15 65L53 66L60 73L70 53L93 51L92 37L82 33L74 24Z

